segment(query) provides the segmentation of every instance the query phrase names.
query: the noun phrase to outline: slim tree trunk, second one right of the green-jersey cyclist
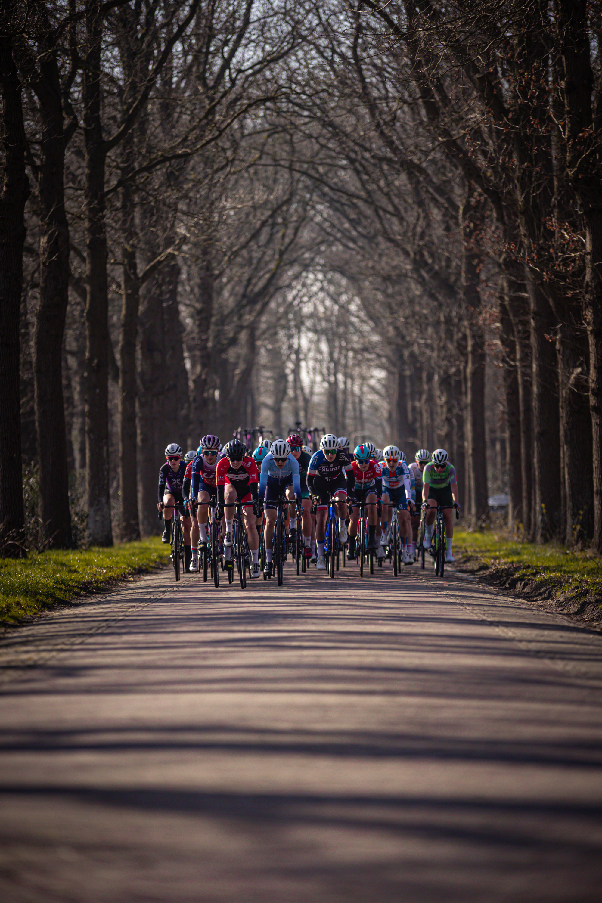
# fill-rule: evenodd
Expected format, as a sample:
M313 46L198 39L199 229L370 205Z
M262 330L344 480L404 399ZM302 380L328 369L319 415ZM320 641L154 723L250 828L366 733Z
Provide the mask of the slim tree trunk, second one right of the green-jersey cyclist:
M521 405L516 365L516 337L508 310L508 283L500 286L500 338L504 349L504 388L506 411L506 448L508 461L508 527L514 530L523 521L523 472L521 463Z

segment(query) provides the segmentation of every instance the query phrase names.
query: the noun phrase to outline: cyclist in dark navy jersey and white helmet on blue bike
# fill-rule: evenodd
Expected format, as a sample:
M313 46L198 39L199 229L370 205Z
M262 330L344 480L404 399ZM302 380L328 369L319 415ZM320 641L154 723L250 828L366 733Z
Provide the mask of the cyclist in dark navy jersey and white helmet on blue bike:
M355 485L355 476L349 456L341 452L338 439L332 433L326 433L320 439L320 448L311 456L307 469L307 486L310 493L317 497L316 540L318 544L318 570L324 571L324 536L326 535L326 517L329 507L329 496L336 502L338 514L338 535L341 543L347 541L347 495Z

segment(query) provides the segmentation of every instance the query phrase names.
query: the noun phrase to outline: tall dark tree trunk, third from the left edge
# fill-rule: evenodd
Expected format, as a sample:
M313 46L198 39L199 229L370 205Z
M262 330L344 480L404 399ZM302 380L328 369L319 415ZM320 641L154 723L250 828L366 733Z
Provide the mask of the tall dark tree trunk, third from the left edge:
M86 7L84 100L86 230L86 507L88 540L113 545L108 466L108 286L105 227L106 150L100 121L102 14Z

